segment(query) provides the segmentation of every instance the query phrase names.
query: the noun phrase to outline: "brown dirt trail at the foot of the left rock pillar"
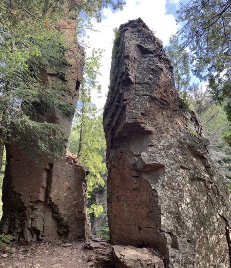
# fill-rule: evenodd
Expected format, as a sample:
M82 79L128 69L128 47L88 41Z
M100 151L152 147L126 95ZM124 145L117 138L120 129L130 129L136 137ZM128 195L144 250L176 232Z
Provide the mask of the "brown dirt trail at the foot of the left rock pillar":
M71 243L11 243L0 250L0 267L92 267L97 253L93 249L86 249L85 244L85 241ZM96 266L94 265L94 267Z

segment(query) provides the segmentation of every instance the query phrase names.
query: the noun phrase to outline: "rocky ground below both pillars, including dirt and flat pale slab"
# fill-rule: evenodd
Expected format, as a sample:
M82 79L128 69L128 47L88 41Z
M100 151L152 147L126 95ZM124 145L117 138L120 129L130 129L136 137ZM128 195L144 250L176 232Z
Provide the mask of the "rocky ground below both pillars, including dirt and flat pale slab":
M59 243L11 243L0 249L7 268L163 268L161 255L150 248L112 246L106 240Z

